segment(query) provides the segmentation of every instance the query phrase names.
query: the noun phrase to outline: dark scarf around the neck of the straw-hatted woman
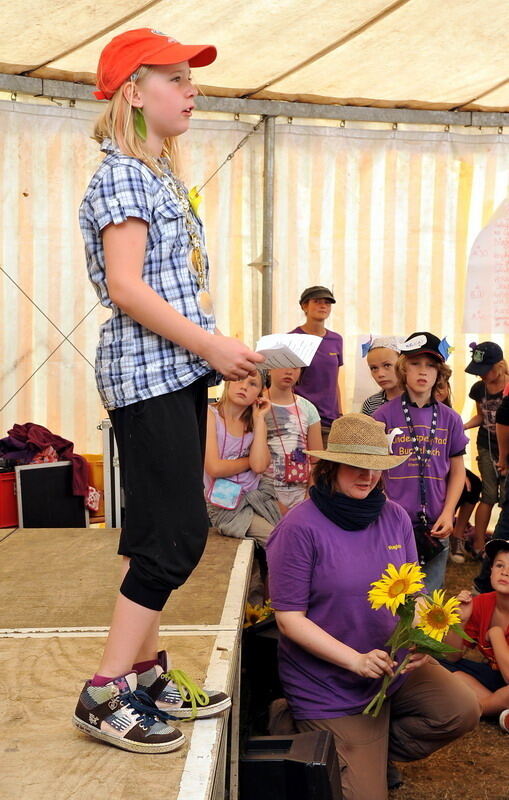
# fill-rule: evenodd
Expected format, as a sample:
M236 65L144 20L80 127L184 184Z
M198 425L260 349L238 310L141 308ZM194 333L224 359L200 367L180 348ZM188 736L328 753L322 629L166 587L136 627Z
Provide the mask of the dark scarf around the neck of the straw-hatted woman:
M372 489L364 500L347 497L337 491L331 494L329 487L321 481L316 486L311 486L309 496L327 519L345 531L361 531L367 528L378 519L386 500L384 493L378 488Z

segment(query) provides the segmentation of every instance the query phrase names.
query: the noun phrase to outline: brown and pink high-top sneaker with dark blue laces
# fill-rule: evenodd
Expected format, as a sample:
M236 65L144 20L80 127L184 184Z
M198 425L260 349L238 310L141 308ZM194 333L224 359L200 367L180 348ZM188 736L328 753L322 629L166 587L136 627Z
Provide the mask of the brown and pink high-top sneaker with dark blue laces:
M185 742L181 731L166 724L161 711L142 690L136 689L136 673L107 683L85 683L73 716L80 731L103 742L135 753L169 753Z

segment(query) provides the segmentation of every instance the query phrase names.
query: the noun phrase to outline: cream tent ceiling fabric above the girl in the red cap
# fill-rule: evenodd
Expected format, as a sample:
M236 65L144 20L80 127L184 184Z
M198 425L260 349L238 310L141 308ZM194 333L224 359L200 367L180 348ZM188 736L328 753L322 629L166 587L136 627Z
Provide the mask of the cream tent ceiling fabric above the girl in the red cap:
M0 71L93 84L103 46L150 27L213 43L206 94L509 110L506 0L11 0Z

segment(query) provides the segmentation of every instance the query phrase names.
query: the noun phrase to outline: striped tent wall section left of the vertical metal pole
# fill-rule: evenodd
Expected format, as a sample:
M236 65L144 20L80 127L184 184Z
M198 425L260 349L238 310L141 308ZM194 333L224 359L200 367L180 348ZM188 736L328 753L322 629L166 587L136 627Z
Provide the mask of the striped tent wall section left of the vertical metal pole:
M16 422L36 422L73 441L77 452L101 451L97 426L106 416L93 363L108 312L88 282L78 226L100 158L90 138L95 117L0 104L0 436ZM203 183L250 130L196 120L180 148L189 185ZM261 249L262 151L261 137L253 136L209 184L200 208L218 325L249 342L260 325L261 275L248 265Z

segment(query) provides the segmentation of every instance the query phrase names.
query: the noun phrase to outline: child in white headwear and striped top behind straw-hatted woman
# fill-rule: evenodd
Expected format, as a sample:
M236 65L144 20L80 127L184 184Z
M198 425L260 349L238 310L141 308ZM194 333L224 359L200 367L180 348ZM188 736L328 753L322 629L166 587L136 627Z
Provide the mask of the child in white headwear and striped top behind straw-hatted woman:
M377 408L398 397L403 391L399 385L394 367L401 353L400 336L379 336L362 346L363 354L366 353L371 377L380 387L380 391L366 398L362 404L362 414L371 414ZM366 348L367 351L366 351Z

